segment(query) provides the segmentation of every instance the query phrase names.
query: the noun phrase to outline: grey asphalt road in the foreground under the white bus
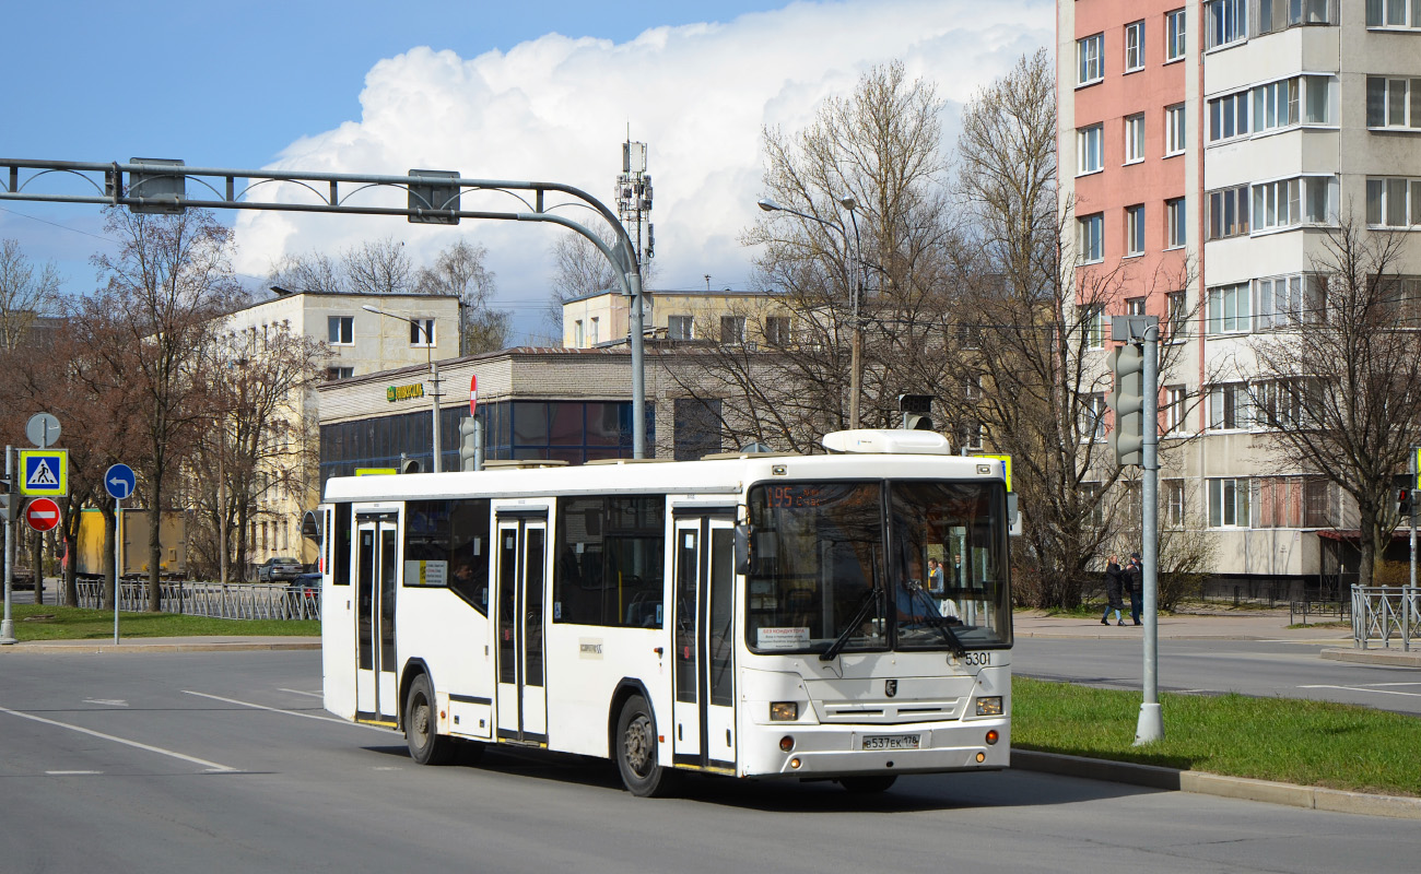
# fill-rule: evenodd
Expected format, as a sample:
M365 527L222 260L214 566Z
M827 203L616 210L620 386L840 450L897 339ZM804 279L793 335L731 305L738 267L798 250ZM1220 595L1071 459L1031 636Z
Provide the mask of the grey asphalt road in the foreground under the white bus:
M318 652L0 655L0 870L1398 871L1414 821L1027 772L834 784L421 767L320 706Z

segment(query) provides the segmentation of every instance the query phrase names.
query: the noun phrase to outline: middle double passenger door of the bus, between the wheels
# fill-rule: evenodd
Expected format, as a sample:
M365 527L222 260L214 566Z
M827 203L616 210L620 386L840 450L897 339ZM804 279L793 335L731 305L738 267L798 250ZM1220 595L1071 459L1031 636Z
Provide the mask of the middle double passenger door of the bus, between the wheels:
M499 517L499 739L547 743L543 671L543 591L547 517Z

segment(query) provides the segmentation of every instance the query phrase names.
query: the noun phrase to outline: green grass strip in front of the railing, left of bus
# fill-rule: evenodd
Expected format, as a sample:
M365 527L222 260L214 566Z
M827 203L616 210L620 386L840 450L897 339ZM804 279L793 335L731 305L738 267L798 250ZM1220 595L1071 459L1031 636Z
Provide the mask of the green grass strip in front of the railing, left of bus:
M114 611L13 604L17 641L114 640ZM47 617L47 618L45 618ZM119 613L124 640L142 637L320 637L317 620L216 620L171 613Z

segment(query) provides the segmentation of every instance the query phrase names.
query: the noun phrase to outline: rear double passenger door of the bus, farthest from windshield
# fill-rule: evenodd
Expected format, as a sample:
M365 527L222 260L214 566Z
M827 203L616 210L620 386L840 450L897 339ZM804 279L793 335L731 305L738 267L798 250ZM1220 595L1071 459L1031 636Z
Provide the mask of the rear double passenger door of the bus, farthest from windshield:
M355 718L399 722L395 684L395 514L355 516Z

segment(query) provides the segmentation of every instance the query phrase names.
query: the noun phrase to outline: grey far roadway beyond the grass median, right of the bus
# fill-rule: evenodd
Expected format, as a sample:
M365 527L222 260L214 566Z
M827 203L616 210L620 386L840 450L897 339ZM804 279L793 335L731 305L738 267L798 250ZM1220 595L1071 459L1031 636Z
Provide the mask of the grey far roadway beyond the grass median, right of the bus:
M1160 688L1337 701L1421 715L1421 671L1323 659L1320 649L1302 642L1161 640ZM1022 676L1138 689L1144 644L1138 638L1017 638L1012 669Z

